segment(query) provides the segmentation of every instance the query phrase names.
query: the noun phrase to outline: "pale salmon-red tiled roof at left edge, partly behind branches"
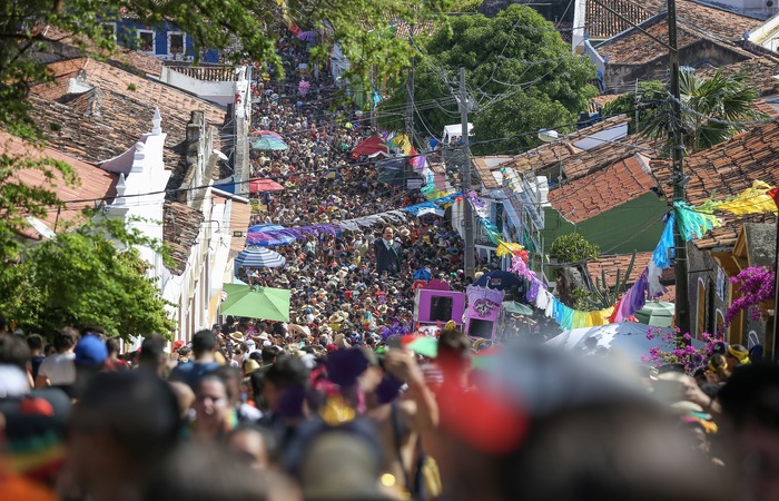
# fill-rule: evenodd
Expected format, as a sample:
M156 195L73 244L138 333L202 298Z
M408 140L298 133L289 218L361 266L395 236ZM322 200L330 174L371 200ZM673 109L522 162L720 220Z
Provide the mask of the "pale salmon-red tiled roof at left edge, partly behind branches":
M14 174L14 177L29 186L41 186L46 189L55 191L57 197L62 200L90 200L93 198L114 197L116 195L116 184L119 179L117 174L108 173L91 164L81 161L77 158L62 154L53 148L36 148L21 139L13 137L4 131L0 131L0 144L2 145L2 154L11 158L29 158L41 160L50 158L53 160L65 161L73 169L78 176L78 181L73 186L68 186L62 178L62 175L52 169L55 176L48 179L46 175L38 169L20 169ZM57 224L57 229L62 229L62 223L76 220L81 216L81 210L87 207L95 207L99 202L82 202L67 204L61 210L56 207L50 207L47 212L43 222L50 228ZM0 217L4 217L0 215ZM26 232L24 236L39 239L40 235L34 232Z

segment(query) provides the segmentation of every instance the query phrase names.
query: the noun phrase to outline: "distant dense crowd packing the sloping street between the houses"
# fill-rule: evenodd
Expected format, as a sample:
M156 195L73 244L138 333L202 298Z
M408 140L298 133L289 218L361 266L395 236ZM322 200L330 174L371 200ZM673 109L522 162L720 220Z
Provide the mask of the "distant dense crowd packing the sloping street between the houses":
M273 71L256 71L253 128L277 134L286 150L254 151L253 176L270 178L284 190L257 194L255 224L313 226L381 214L425 202L422 194L377 180L372 159L352 158L352 149L377 134L356 110L329 110L327 72L302 73L306 42L285 38L279 50L286 61L283 81ZM305 96L299 82L308 84ZM293 94L294 96L289 96ZM384 239L387 247L374 244ZM376 248L395 256L391 267L376 258ZM365 343L393 332L413 330L414 291L431 279L464 291L463 248L451 218L411 215L402 223L384 222L363 230L319 232L305 240L273 247L286 264L278 268L241 269L250 284L290 288L294 323L312 338L336 337ZM496 263L481 262L483 269ZM416 286L415 286L416 284ZM328 345L332 343L325 343Z

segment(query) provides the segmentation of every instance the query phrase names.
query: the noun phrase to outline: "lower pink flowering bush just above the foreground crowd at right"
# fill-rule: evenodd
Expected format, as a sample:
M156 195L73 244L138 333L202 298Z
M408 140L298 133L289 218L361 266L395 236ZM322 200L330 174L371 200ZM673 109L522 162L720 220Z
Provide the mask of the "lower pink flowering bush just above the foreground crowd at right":
M648 355L641 356L641 362L653 364L655 367L665 364L681 364L684 371L692 375L697 369L702 367L709 361L714 351L714 345L722 341L721 337L709 334L701 334L703 345L694 347L691 344L690 334L679 335L679 330L665 332L664 328L650 327L647 332L648 340L661 338L661 346L650 348Z

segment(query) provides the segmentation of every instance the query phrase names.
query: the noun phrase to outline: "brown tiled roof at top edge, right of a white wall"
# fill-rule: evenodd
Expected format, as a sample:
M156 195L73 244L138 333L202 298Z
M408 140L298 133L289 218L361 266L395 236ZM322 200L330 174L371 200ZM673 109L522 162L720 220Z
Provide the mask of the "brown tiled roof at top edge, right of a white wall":
M619 12L628 20L620 19L603 6ZM586 28L590 38L611 38L631 26L639 24L657 14L662 7L663 2L661 0L644 0L642 2L634 0L601 0L598 3L588 1L584 28Z

